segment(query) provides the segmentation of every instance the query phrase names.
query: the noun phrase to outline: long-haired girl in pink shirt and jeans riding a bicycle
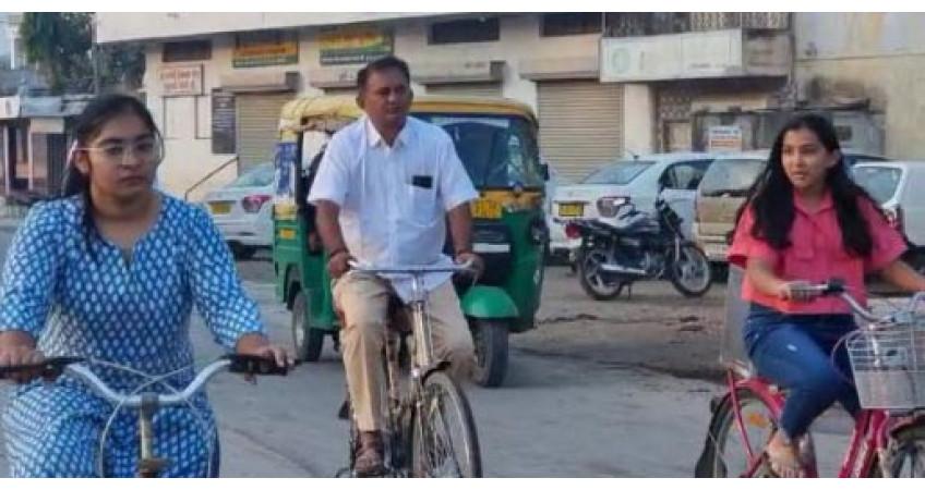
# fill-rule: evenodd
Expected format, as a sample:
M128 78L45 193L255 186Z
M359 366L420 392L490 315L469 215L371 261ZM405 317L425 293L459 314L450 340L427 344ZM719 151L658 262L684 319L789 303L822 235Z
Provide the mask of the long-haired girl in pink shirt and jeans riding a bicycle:
M745 268L748 356L760 376L790 390L766 449L778 475L800 476L792 441L832 403L860 411L844 348L836 366L830 362L838 341L856 328L851 310L805 285L840 278L864 304L864 275L879 272L905 291L925 291L925 278L900 260L904 250L902 235L849 176L831 123L806 114L785 124L740 210L729 250L730 262Z

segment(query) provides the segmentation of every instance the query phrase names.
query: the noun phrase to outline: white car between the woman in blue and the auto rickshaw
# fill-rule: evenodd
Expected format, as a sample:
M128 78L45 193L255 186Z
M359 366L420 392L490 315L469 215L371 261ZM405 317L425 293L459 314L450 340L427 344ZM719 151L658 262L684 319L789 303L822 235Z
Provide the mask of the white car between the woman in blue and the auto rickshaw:
M259 163L203 200L237 258L273 246L275 174L273 163Z

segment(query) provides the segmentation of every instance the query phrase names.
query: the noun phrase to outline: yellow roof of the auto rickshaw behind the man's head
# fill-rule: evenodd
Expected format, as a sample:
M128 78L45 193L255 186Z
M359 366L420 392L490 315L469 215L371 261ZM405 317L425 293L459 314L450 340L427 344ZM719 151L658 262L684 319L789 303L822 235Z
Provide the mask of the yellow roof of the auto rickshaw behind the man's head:
M463 113L519 115L536 124L533 111L526 105L504 98L463 96L415 97L411 113ZM363 115L353 96L300 97L283 106L280 127L297 127L305 119L356 120Z

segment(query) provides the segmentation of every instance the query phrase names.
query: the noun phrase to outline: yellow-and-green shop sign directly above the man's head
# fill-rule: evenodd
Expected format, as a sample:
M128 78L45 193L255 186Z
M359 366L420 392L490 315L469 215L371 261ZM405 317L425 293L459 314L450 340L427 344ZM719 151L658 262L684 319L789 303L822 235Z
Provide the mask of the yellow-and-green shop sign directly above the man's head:
M392 54L392 32L375 26L335 27L319 35L321 64L360 64Z

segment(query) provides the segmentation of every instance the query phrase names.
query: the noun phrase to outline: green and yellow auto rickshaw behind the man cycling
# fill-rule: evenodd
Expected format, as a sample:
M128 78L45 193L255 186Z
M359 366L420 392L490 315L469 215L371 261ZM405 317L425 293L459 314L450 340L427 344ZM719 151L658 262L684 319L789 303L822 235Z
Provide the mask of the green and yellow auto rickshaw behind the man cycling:
M362 115L348 96L305 97L281 111L276 149L273 264L276 297L292 311L297 355L317 360L339 321L332 304L327 256L307 196L326 142ZM476 345L474 381L497 387L507 370L510 332L534 327L549 232L543 217L548 169L540 163L537 120L505 99L419 97L411 115L453 138L480 197L471 204L473 250L485 260L478 283L457 282ZM447 249L448 250L448 249Z

